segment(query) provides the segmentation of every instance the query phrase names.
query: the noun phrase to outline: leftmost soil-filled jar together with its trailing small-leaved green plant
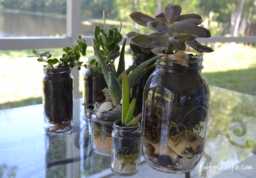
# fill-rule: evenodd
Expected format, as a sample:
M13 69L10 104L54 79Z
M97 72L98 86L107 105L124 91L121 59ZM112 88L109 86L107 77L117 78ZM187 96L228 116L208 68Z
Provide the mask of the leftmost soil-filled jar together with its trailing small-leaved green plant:
M78 66L81 69L83 62L79 60L81 54L85 56L87 45L85 41L76 41L72 48L63 48L65 54L60 59L51 59L50 52L32 50L37 61L44 65L43 76L43 117L44 129L47 133L62 135L72 132L73 129L73 77L71 69Z

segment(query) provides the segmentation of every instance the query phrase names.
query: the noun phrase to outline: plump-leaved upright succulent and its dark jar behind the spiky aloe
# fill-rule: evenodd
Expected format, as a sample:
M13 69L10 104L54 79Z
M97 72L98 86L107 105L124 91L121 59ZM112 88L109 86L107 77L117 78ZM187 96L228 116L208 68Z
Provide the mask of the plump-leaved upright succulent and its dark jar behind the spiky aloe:
M104 29L101 29L100 26L96 25L94 28L94 41L106 64L109 66L109 61L114 63L115 59L120 56L120 46L119 42L122 40L122 35L120 33L122 28L122 22L120 23L119 29L117 28L106 28L105 13L103 11L103 20L104 20ZM95 46L93 45L94 51ZM88 66L93 66L96 68L88 68L83 72L83 116L85 121L91 121L91 115L94 113L93 107L87 107L89 105L95 104L95 102L103 102L105 100L104 95L102 95L102 89L107 88L108 85L104 79L104 76L101 71L99 64L98 56L96 56L96 51L93 56L88 57ZM98 62L98 63L97 63ZM91 65L90 63L93 63ZM85 117L87 115L87 117Z

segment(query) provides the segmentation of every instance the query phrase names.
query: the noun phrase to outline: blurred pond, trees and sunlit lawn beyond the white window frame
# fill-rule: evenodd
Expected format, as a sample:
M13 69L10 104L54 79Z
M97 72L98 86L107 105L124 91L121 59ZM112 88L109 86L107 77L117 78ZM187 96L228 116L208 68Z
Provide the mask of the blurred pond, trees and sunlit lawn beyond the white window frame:
M153 16L161 13L166 4L180 5L182 14L201 15L204 21L200 26L208 28L212 36L256 36L256 0L82 0L81 35L93 35L95 25L103 28L103 10L107 28L118 28L122 20L123 36L130 31L149 34L150 30L134 24L129 14L141 11ZM66 37L66 11L66 0L0 0L0 38ZM209 85L256 96L255 43L204 45L215 50L204 54L202 72ZM62 48L36 50L50 51L54 58L63 54ZM88 47L87 55L80 61L87 61L92 54L93 48ZM131 54L127 45L126 67L131 61ZM28 55L32 55L31 50L0 50L0 109L42 103L42 63L36 58L27 58ZM80 97L83 70L80 70L79 77Z

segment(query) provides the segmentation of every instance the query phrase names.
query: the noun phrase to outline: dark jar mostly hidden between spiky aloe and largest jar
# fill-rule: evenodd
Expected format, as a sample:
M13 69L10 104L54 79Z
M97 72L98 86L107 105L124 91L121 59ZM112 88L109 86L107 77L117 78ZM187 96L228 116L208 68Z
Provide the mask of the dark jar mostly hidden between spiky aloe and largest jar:
M129 67L133 64L136 64L135 67L139 66L143 62L147 61L148 59L151 59L152 57L155 57L152 54L143 54L143 53L132 53L132 62L129 64ZM152 63L154 64L154 63ZM143 90L145 87L145 84L148 80L148 77L152 72L156 69L156 67L152 67L146 74L144 74L141 79L135 83L135 85L132 87L130 92L130 102L132 102L133 98L136 98L136 104L134 109L134 117L137 117L139 113L142 112L142 104L143 104Z

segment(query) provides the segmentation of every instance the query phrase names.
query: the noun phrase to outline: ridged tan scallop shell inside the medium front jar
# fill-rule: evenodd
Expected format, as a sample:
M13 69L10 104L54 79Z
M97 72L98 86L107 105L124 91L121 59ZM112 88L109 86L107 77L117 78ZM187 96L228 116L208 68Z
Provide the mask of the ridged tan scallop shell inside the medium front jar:
M99 151L111 154L111 137L105 137L104 140L102 140L102 137L98 136L93 138L93 143Z

